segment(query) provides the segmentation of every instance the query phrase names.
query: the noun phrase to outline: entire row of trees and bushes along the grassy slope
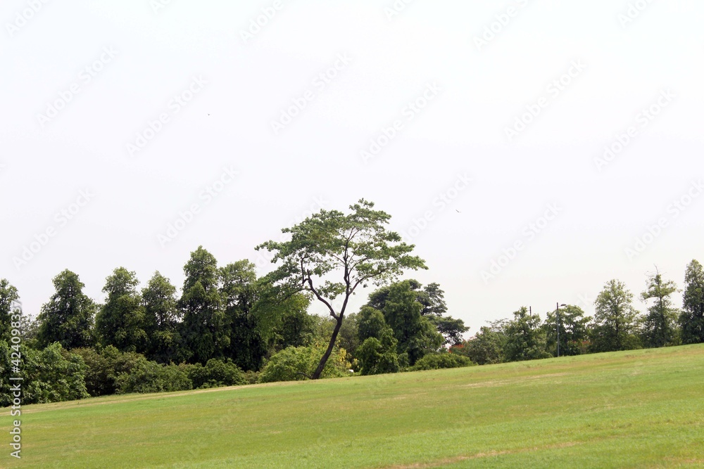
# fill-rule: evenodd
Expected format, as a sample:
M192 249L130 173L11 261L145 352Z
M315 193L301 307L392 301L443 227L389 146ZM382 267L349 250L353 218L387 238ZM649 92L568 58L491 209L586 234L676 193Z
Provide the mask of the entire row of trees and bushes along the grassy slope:
M557 354L558 340L561 355L704 342L696 261L681 310L670 300L674 283L655 274L641 295L652 302L645 315L610 281L593 318L569 305L542 322L522 307L463 340L468 328L448 316L440 285L401 279L427 267L373 207L360 200L348 214L320 210L283 229L287 240L257 247L274 253L275 269L261 277L249 260L219 266L201 246L184 265L180 295L158 271L140 289L137 274L121 266L99 304L65 270L37 318L18 324L18 291L0 279L0 405L11 399L7 378L20 350L23 402L31 404L539 359ZM350 298L370 284L377 288L350 314ZM309 314L313 302L328 316ZM21 349L11 340L16 330Z

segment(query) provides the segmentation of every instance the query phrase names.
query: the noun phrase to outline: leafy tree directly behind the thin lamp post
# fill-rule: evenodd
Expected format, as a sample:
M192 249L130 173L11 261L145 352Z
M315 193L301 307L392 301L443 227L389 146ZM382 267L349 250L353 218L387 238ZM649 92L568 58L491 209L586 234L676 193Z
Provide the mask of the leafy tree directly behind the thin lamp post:
M584 352L584 344L589 340L589 316L578 306L567 304L560 308L559 321L555 311L548 311L544 329L546 350L557 355L558 324L560 326L560 355L579 355Z

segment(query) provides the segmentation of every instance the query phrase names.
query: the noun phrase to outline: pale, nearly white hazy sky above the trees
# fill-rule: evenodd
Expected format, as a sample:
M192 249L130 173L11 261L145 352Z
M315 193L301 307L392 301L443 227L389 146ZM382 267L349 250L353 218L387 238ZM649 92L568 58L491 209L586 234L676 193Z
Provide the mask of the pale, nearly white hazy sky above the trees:
M5 0L0 278L180 287L360 198L471 335L704 262L704 4ZM356 295L353 310L370 290ZM680 296L676 298L679 304ZM315 311L315 309L314 309Z

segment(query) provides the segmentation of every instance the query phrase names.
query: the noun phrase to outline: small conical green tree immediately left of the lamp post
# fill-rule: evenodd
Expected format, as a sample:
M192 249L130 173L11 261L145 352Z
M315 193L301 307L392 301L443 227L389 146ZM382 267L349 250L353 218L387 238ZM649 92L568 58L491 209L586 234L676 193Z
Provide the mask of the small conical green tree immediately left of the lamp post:
M545 351L545 331L538 314L530 314L527 307L513 313L513 321L505 326L504 345L507 361L543 359L550 356Z

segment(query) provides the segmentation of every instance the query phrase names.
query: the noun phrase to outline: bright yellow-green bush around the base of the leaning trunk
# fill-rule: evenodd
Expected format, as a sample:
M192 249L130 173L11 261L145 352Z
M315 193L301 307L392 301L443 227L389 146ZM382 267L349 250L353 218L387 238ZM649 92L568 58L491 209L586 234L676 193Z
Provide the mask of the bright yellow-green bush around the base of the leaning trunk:
M274 354L259 375L260 383L304 380L318 367L325 347L288 347ZM349 375L350 363L345 349L336 348L330 354L320 378L337 378Z

